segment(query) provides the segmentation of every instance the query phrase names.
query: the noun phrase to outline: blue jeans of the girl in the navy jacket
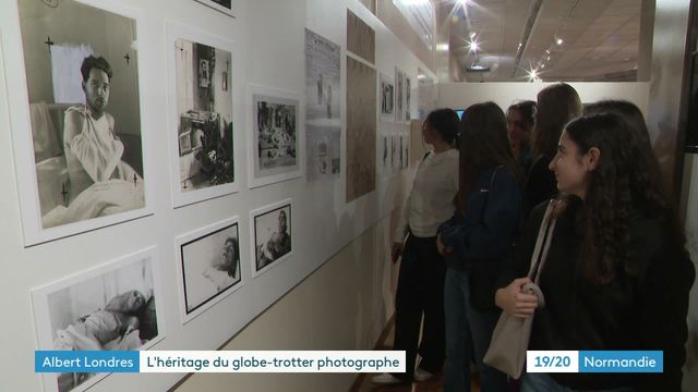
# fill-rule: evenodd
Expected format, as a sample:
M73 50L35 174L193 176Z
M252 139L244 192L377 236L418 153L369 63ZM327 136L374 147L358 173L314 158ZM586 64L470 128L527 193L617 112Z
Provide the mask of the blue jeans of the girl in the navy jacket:
M481 314L470 306L468 273L448 268L444 283L446 363L444 392L470 391L470 360L480 372L482 392L507 390L506 375L482 363L500 313Z

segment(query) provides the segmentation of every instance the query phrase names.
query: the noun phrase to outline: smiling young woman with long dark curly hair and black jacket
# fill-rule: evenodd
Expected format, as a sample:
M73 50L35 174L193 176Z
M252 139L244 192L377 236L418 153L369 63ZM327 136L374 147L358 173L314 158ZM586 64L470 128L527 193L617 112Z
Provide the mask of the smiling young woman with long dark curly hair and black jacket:
M539 285L521 293L546 203L517 244L504 311L535 313L529 350L663 351L661 373L525 373L526 391L681 391L694 266L655 164L631 123L613 113L567 124L550 163L561 196Z

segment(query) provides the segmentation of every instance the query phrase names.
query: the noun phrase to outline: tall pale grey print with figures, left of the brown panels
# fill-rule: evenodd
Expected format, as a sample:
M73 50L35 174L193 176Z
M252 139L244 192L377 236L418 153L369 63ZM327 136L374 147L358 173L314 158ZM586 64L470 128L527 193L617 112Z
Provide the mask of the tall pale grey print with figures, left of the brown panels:
M305 29L305 130L308 181L339 177L341 49Z

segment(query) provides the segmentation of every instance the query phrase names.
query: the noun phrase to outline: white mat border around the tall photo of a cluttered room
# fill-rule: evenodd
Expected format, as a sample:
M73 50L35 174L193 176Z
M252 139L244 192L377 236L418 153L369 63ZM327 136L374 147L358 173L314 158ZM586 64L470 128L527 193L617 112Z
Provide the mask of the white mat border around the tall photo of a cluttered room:
M168 121L167 121L167 130L168 130L168 143L169 143L169 157L170 157L170 185L171 185L171 195L172 195L172 208L180 208L184 206L189 206L192 204L209 200L213 198L230 195L240 191L240 127L236 126L236 118L237 115L242 115L238 113L236 115L234 107L236 107L236 98L240 99L240 87L234 83L233 75L236 69L241 69L241 64L236 60L240 58L239 53L236 53L236 45L233 41L227 40L221 37L217 37L210 35L208 33L188 27L180 23L177 23L171 20L165 21L166 27L166 39L167 39L167 59L170 60L167 63L167 98L168 98ZM177 68L174 64L176 49L174 41L178 38L183 38L196 44L207 45L209 47L224 49L230 52L230 73L228 77L230 82L228 82L228 90L232 94L232 143L233 143L233 156L232 156L232 164L234 170L234 179L231 183L220 184L208 186L201 189L194 189L190 192L182 192L181 189L181 181L180 181L180 161L179 161L179 135L178 135L178 125L179 125L179 113L177 112ZM240 121L238 121L238 124ZM237 131L237 132L236 132Z

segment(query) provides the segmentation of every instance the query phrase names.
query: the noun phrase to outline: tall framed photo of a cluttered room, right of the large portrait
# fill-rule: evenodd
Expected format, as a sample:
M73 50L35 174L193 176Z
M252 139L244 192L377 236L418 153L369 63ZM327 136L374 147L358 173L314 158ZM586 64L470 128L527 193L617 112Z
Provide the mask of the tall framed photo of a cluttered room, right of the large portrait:
M233 44L167 22L174 208L238 192ZM234 61L233 61L234 60Z

